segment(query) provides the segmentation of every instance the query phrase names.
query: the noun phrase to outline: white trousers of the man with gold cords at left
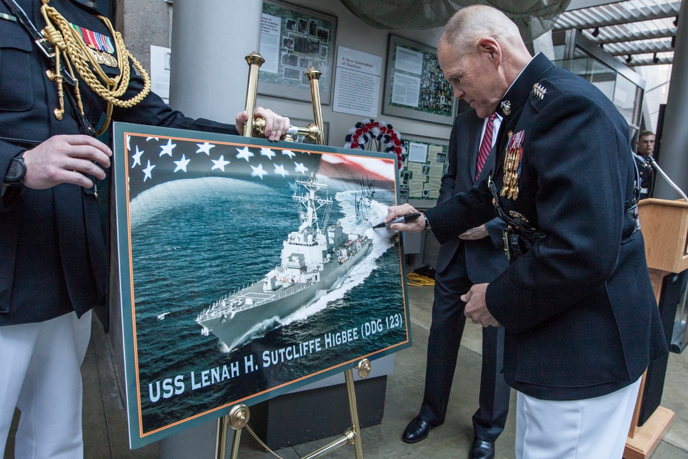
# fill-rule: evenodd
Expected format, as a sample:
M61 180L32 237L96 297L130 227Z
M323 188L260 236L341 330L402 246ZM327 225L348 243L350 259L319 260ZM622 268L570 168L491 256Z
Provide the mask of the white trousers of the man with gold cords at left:
M90 311L0 326L0 453L16 406L16 459L83 458L80 367L90 338Z

